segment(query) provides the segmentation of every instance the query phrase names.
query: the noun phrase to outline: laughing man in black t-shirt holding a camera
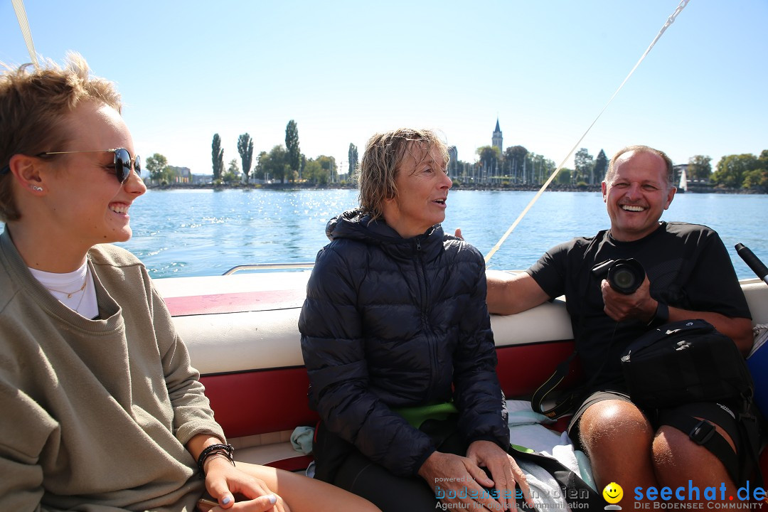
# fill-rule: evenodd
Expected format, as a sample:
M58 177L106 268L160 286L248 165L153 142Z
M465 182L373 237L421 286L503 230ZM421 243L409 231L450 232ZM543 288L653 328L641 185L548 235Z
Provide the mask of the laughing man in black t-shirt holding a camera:
M577 410L568 429L593 464L598 486L676 487L725 483L735 492L733 454L740 451L731 404L697 403L675 409L705 419L716 441L700 444L667 410L641 410L621 372L624 348L658 325L704 319L743 354L752 346L750 311L720 236L707 226L660 222L675 194L672 162L664 152L630 146L612 159L602 183L611 228L550 249L525 273L488 272L488 310L508 315L564 295L584 368ZM607 260L637 259L646 276L631 293L617 292L591 272ZM701 441L701 440L700 440ZM724 445L723 443L727 443ZM714 449L721 453L722 451ZM741 453L740 453L741 454ZM732 495L732 494L731 494Z

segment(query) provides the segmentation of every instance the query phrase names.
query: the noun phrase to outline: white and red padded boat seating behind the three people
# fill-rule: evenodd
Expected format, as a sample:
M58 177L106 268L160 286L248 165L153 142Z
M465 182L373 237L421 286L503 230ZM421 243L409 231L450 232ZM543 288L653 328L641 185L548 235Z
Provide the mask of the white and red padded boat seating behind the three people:
M177 331L200 371L235 458L291 470L310 457L290 433L316 424L307 405L297 323L308 272L157 279ZM768 322L765 283L743 283L753 322ZM205 293L202 294L201 290ZM508 398L530 395L573 351L571 321L558 300L518 315L492 315L498 376Z

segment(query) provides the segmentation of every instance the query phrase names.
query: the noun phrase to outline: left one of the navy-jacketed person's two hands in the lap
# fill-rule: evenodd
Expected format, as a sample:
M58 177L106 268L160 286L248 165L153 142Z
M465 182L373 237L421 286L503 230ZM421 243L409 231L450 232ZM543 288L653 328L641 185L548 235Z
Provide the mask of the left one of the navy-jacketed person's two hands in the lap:
M488 510L502 510L483 488L493 487L494 482L468 457L434 451L419 468L419 476L435 490L435 497L442 503L452 507L463 505L466 510L476 510L477 504Z

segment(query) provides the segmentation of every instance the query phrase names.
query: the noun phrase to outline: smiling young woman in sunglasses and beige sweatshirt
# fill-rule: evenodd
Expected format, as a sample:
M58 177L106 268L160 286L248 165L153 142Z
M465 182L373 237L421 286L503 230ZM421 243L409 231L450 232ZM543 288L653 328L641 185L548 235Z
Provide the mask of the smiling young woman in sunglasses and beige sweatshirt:
M375 510L233 463L147 270L108 245L146 191L113 86L78 55L8 69L0 120L0 509Z

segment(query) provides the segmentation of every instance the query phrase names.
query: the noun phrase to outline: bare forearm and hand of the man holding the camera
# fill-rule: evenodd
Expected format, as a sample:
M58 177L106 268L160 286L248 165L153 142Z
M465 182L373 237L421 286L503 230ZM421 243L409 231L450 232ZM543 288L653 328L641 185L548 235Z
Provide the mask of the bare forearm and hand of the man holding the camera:
M490 286L488 287L490 289ZM606 280L601 282L605 314L617 322L624 320L641 320L650 322L656 315L658 301L650 296L650 282L645 278L642 286L632 295L624 295L611 288ZM489 294L490 295L490 294ZM489 305L490 307L490 305ZM702 319L710 322L715 329L727 335L743 355L748 355L752 349L752 321L750 319L730 317L710 311L690 311L688 309L669 307L669 322L687 319Z

